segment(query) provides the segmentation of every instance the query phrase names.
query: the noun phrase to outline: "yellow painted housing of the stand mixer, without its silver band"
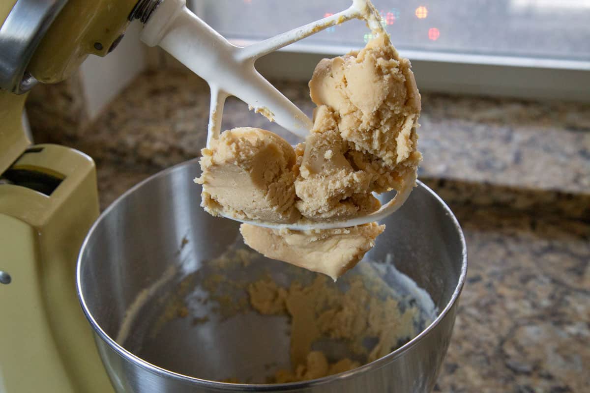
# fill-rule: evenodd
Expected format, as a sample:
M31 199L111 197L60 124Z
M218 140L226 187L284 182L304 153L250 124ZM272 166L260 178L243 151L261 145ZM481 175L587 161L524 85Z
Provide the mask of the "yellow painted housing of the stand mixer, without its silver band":
M0 34L18 6L32 3L0 2ZM61 1L23 65L28 77L57 82L88 54L106 55L146 2L136 3ZM9 55L0 53L0 63ZM22 126L27 94L15 93L18 86L0 89L0 392L112 392L74 277L99 215L94 163L71 148L30 146Z

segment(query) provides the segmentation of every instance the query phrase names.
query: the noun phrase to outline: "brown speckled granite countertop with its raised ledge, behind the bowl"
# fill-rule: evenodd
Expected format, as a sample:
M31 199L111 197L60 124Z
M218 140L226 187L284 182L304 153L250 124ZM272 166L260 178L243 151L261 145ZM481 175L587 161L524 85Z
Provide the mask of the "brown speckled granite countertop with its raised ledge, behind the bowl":
M275 84L311 113L306 84ZM199 155L208 100L189 72L148 71L83 133L51 137L41 104L31 123L96 159L104 208ZM422 94L422 107L419 177L457 215L469 259L435 391L588 391L590 105ZM225 114L224 129L277 130L237 100Z

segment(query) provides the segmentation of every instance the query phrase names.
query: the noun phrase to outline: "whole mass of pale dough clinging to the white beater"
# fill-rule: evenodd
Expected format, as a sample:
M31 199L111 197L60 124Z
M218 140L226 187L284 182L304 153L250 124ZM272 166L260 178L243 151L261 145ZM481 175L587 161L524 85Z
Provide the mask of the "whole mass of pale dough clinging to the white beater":
M372 192L399 190L417 171L420 95L409 61L388 35L320 61L309 87L314 126L294 149L269 131L234 128L203 150L195 181L207 212L277 223L345 220L378 210ZM384 229L240 228L254 250L333 279L355 266Z

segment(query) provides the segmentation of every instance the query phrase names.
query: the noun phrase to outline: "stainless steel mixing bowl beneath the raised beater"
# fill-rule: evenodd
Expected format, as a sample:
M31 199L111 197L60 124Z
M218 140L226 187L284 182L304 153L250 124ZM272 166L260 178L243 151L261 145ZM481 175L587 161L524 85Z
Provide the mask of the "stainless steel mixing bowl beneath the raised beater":
M199 207L201 189L192 181L198 174L198 161L192 160L133 187L101 214L81 249L78 295L117 392L431 391L453 331L467 255L453 213L421 183L402 209L385 220L385 233L365 258L373 262L360 264L395 267L425 289L438 308L434 322L391 354L313 381L228 384L205 378L260 372L268 361L288 353L284 319L246 314L207 327L177 318L150 334L162 314L160 300L178 290L183 277L202 278L195 273L205 272L205 262L230 248L238 236L237 223ZM283 276L297 269L263 257L249 268ZM383 279L401 285L389 274ZM123 327L129 308L139 311ZM129 335L119 340L121 345L115 340L122 328Z

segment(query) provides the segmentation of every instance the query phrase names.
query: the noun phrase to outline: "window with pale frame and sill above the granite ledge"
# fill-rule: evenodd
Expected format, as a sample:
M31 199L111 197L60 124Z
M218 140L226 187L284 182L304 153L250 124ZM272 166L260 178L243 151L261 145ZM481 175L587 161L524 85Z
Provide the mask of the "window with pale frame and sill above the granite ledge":
M590 100L590 0L374 0L373 4L396 48L420 69L416 74L421 88L431 85L421 75L428 72L437 74L434 90L462 91L473 85L467 93L560 98L555 97L557 89L562 98ZM224 37L247 45L342 11L350 1L194 0L189 5ZM343 54L362 47L369 36L362 22L351 21L284 51ZM278 60L280 56L273 61ZM460 67L449 67L457 64ZM469 75L465 80L467 64L474 66L467 71L473 81ZM494 80L494 74L503 77L503 83Z

